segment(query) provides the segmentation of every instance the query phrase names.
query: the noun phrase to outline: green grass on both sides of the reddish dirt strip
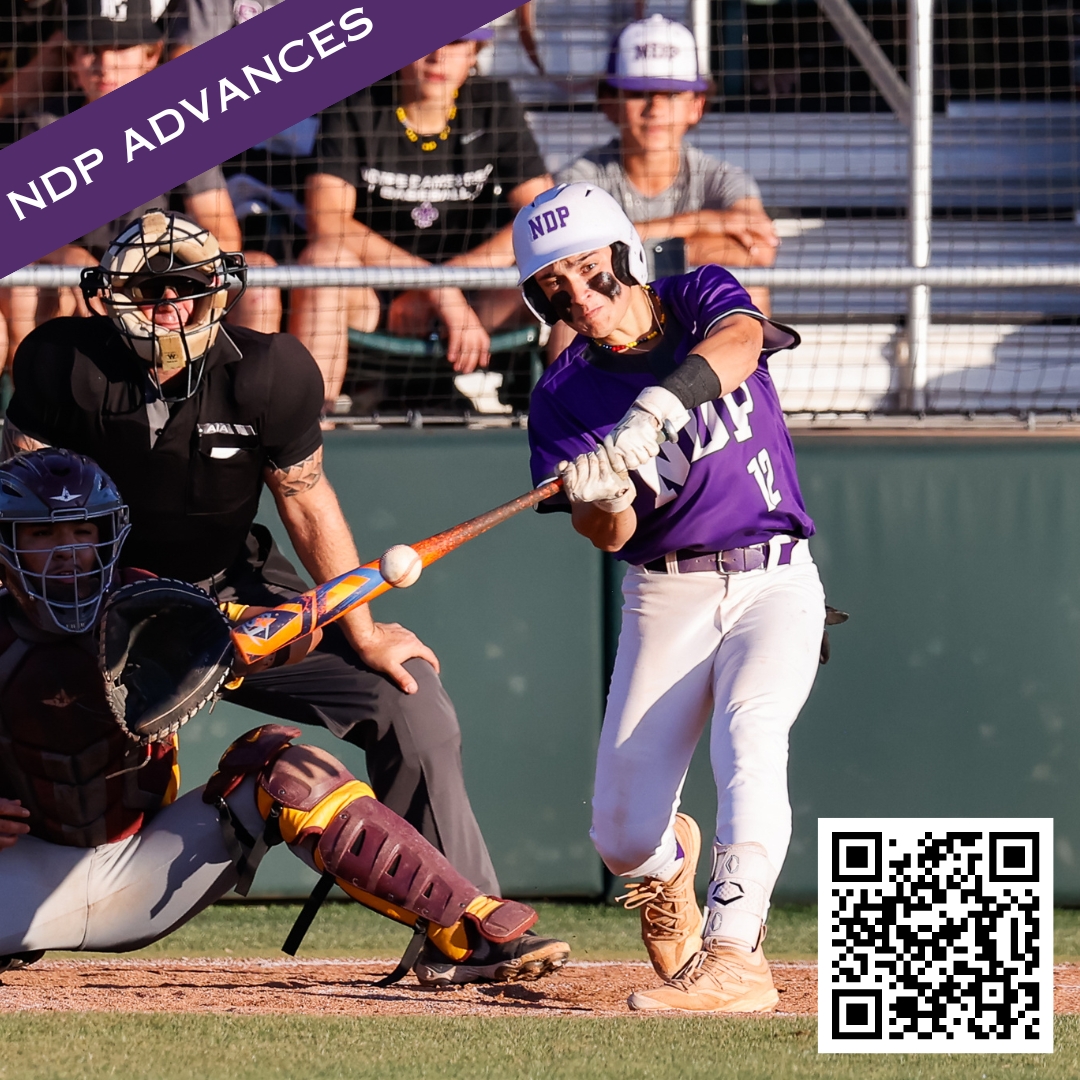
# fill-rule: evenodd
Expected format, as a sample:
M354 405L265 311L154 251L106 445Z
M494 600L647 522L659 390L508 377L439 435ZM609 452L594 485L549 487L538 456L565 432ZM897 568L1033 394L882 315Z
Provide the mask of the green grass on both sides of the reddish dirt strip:
M569 940L580 959L643 957L634 914L537 907L539 929ZM137 955L280 956L297 910L221 904ZM1080 910L1055 916L1057 959L1080 960ZM778 906L769 954L813 959L815 934L812 906ZM407 936L356 905L328 904L300 955L392 957ZM814 1022L798 1017L13 1013L0 1014L0 1080L1074 1080L1080 1017L1058 1017L1054 1030L1052 1055L819 1055Z

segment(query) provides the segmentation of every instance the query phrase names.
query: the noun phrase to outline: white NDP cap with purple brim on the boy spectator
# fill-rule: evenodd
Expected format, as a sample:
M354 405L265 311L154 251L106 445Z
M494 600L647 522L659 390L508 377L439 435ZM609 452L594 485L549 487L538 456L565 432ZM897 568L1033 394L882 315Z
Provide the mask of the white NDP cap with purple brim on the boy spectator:
M650 15L624 26L611 43L604 81L619 90L703 91L698 43L681 24Z

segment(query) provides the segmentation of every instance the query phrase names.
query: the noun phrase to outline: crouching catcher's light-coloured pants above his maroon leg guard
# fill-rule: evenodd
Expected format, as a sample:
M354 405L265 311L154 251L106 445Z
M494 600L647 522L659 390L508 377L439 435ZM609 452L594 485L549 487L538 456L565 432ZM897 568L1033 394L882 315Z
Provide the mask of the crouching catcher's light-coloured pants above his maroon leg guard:
M262 832L253 780L228 802L248 833ZM201 787L116 843L69 848L22 836L0 851L0 957L141 948L235 883L217 809L203 802Z

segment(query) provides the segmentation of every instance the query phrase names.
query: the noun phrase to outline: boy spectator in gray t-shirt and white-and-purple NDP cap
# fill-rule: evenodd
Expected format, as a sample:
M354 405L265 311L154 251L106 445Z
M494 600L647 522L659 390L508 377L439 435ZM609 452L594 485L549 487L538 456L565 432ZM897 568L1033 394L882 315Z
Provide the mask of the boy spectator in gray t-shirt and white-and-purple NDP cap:
M600 108L619 135L585 151L555 179L588 180L608 191L643 240L681 238L691 266L772 266L780 240L753 177L686 141L708 89L685 26L658 14L623 27L598 90ZM768 293L750 292L768 313ZM552 334L552 357L569 343L567 334L572 336Z

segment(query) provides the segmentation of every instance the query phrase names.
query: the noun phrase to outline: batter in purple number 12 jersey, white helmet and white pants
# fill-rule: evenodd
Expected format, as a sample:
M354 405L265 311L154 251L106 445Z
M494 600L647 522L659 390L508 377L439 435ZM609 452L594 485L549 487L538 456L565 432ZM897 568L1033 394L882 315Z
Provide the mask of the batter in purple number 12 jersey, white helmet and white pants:
M719 267L649 285L636 230L589 184L524 208L514 251L534 311L578 334L534 391L534 481L562 476L575 529L627 564L592 837L613 874L644 878L626 903L669 982L630 1005L771 1009L761 942L791 836L787 734L825 619L767 363L797 335ZM703 920L700 835L677 811L710 716L719 808Z

